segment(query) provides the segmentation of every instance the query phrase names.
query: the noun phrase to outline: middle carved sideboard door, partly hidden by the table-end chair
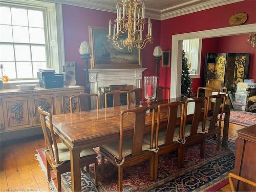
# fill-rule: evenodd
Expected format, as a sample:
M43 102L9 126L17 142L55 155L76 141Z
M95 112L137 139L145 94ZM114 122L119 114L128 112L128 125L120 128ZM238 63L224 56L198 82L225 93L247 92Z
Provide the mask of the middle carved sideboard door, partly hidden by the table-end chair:
M41 106L42 110L55 115L54 95L35 96L32 99L31 113L33 117L33 126L40 124L40 116L37 112L38 106Z

